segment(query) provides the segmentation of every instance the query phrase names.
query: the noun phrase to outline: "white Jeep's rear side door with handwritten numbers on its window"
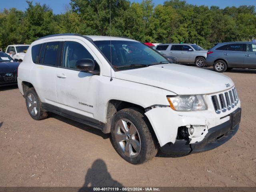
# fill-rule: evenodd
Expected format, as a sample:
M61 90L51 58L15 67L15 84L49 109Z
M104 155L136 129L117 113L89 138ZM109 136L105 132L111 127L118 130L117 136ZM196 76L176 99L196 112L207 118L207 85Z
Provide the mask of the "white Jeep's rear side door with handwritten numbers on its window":
M55 76L60 63L61 40L52 40L32 46L35 65L30 72L38 96L46 107L58 110Z

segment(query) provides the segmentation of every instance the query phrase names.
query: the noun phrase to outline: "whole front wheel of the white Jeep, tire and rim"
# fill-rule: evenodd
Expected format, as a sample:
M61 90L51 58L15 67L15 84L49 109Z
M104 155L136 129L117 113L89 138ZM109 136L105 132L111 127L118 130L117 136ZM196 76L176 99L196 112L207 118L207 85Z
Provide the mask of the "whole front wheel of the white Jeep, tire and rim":
M111 136L116 152L129 163L142 164L158 152L150 124L137 108L126 108L115 114Z

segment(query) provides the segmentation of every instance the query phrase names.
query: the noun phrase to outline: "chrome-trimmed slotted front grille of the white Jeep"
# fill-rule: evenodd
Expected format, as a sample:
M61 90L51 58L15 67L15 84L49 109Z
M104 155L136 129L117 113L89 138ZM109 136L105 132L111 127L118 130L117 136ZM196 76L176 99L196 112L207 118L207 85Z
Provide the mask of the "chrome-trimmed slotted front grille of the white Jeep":
M211 97L214 110L218 114L221 112L226 112L226 110L231 110L238 104L236 88L232 88L231 90L213 95Z

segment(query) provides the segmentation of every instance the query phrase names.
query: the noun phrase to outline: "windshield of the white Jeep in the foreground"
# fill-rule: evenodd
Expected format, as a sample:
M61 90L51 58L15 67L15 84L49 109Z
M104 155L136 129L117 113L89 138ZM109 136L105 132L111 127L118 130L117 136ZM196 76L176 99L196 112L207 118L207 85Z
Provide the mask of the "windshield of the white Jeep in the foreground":
M112 61L115 68L127 66L149 66L153 64L169 63L161 54L152 50L148 46L134 41L111 41L111 56L110 59L110 41L94 41L96 46L106 56L108 61Z

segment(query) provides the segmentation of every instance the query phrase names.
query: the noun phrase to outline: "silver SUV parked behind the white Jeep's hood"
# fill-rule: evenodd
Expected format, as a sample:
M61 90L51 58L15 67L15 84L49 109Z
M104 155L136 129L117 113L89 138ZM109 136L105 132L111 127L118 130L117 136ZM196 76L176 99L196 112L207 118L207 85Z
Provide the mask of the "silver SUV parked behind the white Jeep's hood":
M207 50L204 50L197 44L159 44L156 50L176 57L177 62L180 64L196 64L198 67L205 66Z

